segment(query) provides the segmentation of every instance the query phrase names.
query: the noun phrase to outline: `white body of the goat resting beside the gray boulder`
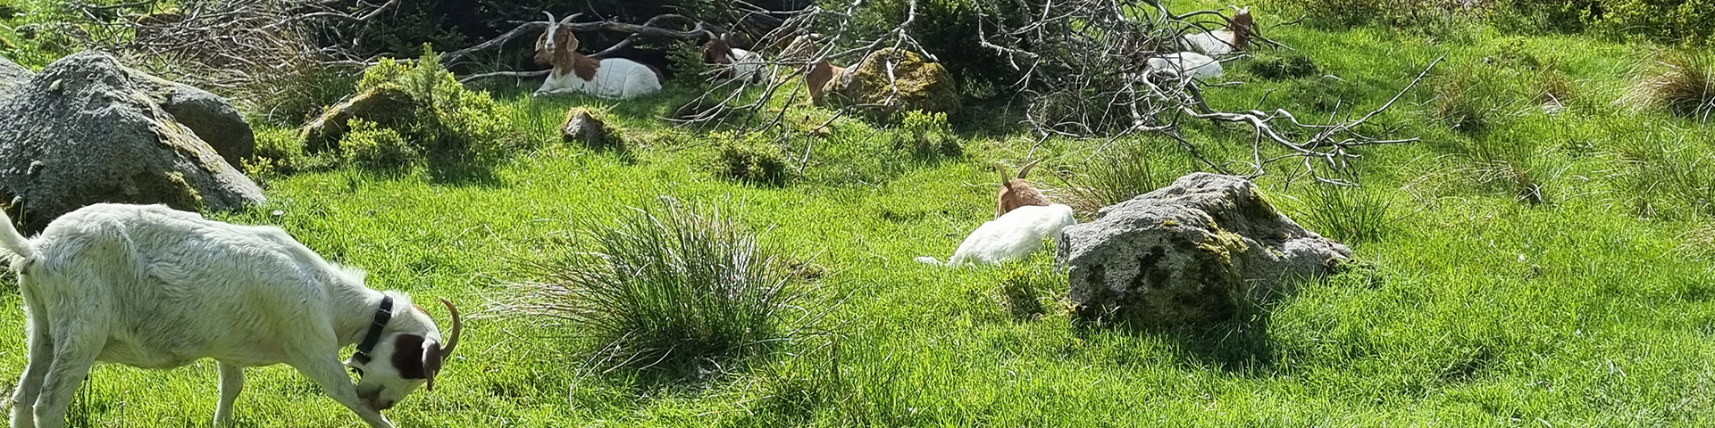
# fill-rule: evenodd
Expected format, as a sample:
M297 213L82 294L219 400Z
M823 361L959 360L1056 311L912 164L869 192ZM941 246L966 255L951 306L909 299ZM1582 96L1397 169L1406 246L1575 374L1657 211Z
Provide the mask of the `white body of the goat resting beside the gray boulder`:
M1077 224L1077 219L1072 217L1072 207L1062 204L1017 207L998 219L978 226L971 236L966 236L959 243L959 250L954 252L954 257L947 259L945 265L998 265L1007 260L1024 259L1043 248L1043 238L1055 238L1055 245L1058 247L1060 229L1072 224ZM918 257L918 262L942 264L935 257Z

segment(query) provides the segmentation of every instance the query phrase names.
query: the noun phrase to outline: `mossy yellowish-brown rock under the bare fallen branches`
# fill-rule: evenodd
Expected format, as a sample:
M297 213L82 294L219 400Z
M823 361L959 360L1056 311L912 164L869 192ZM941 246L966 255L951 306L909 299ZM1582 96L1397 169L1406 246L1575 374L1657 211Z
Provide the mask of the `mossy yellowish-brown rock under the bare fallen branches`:
M894 68L892 77L888 67ZM823 98L823 103L878 113L871 116L888 116L906 110L959 111L959 86L947 68L924 60L923 55L895 48L866 55L858 65L828 80L823 91L832 94Z

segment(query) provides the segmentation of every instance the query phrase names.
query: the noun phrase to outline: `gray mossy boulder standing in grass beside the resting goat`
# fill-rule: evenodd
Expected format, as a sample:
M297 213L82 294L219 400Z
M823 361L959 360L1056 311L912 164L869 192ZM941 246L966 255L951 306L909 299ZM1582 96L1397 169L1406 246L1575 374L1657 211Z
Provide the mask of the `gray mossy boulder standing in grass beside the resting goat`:
M1084 317L1219 322L1324 276L1351 250L1293 223L1243 178L1192 173L1065 228L1058 260Z

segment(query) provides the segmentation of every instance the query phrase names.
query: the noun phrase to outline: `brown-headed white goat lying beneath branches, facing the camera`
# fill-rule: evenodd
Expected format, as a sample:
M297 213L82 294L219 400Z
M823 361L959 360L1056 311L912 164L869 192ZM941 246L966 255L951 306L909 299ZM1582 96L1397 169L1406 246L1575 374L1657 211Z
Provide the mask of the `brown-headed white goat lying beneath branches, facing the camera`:
M599 98L629 99L660 91L660 70L626 58L590 58L578 53L578 36L571 33L573 17L554 21L547 14L547 31L537 38L535 62L552 65L535 96L583 92Z

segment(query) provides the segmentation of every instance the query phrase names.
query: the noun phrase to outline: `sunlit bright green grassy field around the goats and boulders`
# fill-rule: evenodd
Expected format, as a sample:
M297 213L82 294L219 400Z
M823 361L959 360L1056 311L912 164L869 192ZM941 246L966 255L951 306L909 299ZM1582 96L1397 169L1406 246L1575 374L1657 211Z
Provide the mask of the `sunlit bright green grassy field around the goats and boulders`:
M1065 276L1046 252L998 269L912 262L950 255L993 216L991 166L1024 159L1027 135L966 132L962 156L912 158L894 130L840 120L803 140L816 144L803 175L748 185L713 173L724 135L655 120L686 91L626 104L501 91L511 123L544 144L485 180L307 171L266 180L262 207L213 216L278 224L367 269L372 288L482 315L437 389L389 411L400 426L1715 426L1715 132L1616 103L1657 46L1483 24L1267 34L1321 72L1264 80L1230 67L1247 84L1211 89L1211 103L1362 111L1446 62L1377 120L1422 140L1362 149L1362 187L1259 178L1362 267L1302 284L1257 320L1082 327L1053 294ZM1566 110L1544 113L1544 92ZM607 108L629 151L552 142L571 106ZM1214 159L1250 158L1247 130L1187 135ZM1209 169L1164 140L1125 144L1156 183ZM1092 147L1050 140L1038 171L1077 169ZM1065 187L1036 176L1050 195ZM717 205L763 247L825 269L797 284L825 315L815 334L701 373L604 372L576 330L485 310L535 279L530 260L578 241L569 224L664 195ZM1046 308L1015 315L1014 289ZM0 303L10 390L22 303L15 291ZM98 366L72 426L204 426L214 372ZM292 368L247 373L240 426L360 426Z

